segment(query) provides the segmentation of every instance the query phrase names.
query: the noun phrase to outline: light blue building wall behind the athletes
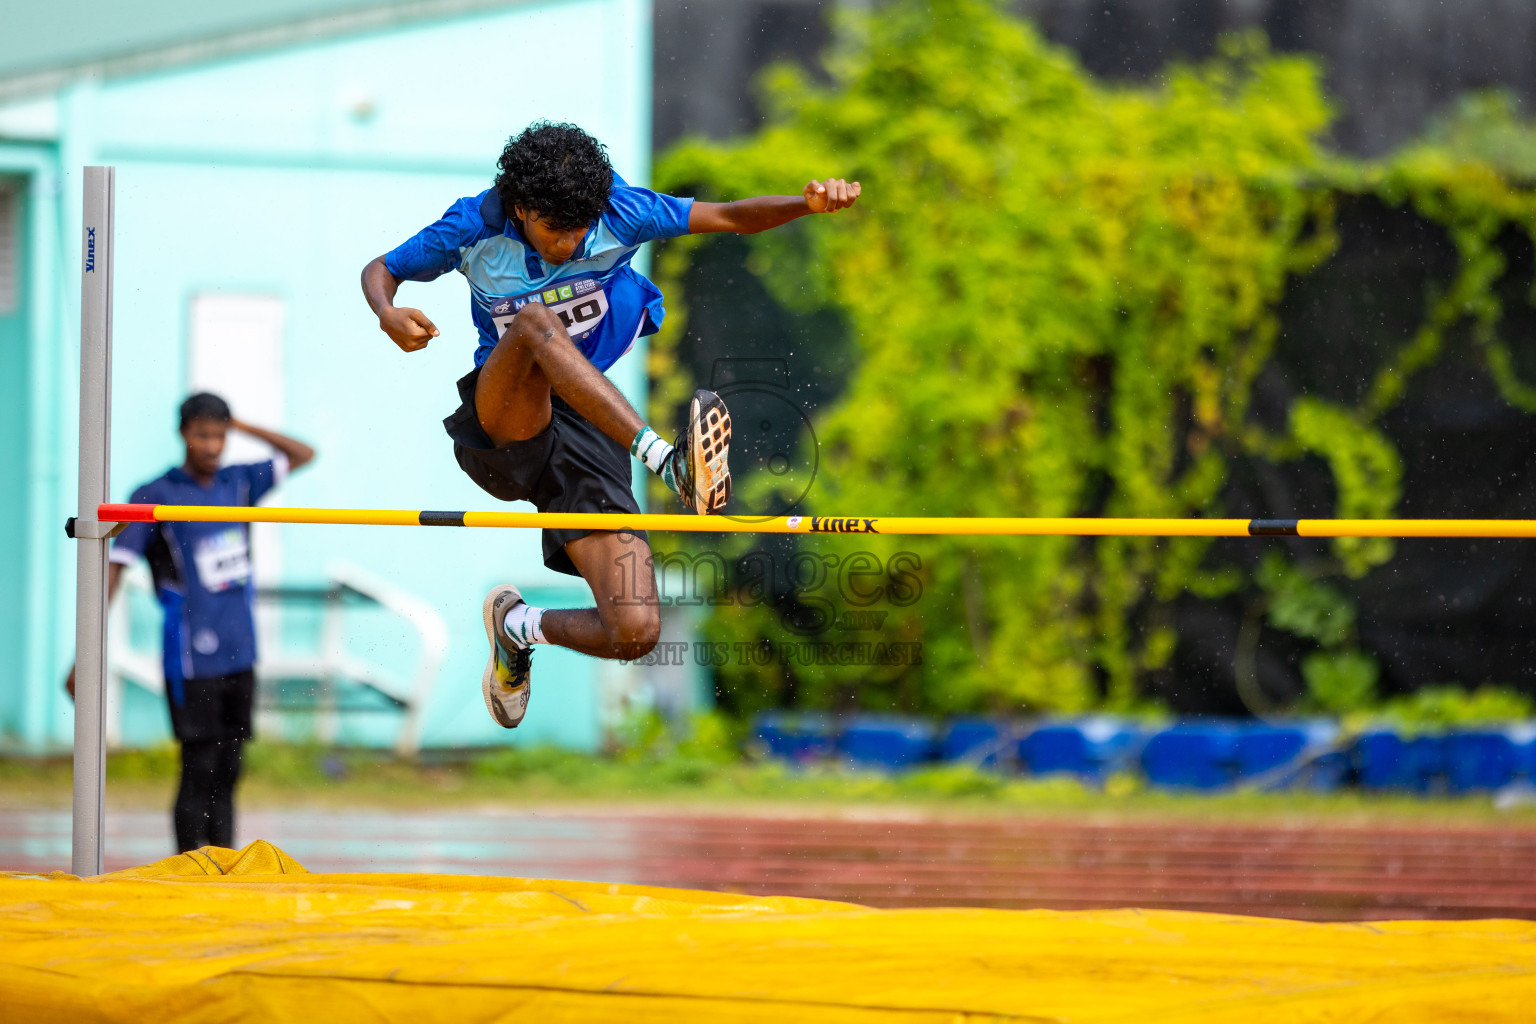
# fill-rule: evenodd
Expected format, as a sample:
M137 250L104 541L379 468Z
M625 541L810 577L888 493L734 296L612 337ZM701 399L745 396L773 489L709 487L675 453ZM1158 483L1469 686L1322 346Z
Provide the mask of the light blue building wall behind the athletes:
M378 330L358 273L485 189L507 135L535 118L582 124L621 173L645 181L650 52L648 0L513 3L77 80L0 106L0 184L14 193L22 253L20 301L0 312L11 527L0 531L0 743L63 746L72 731L60 683L74 646L74 550L61 525L75 494L80 169L118 169L114 496L126 500L181 457L175 407L190 382L194 301L249 295L281 310L283 416L270 425L319 451L276 504L488 508L441 425L476 344L462 279L402 287L399 301L442 329L425 352L404 355ZM637 348L611 372L636 404L644 362ZM518 582L538 603L590 603L581 580L542 567L530 533L273 530L267 554L283 583L323 582L339 559L444 617L450 645L427 746L513 738L492 725L478 689L479 600L493 583ZM415 657L398 623L364 629L361 657ZM591 749L601 692L625 686L604 672L642 669L545 648L536 671L516 742ZM166 735L152 694L129 686L124 702L123 742ZM393 725L344 717L339 728L341 740L387 742Z

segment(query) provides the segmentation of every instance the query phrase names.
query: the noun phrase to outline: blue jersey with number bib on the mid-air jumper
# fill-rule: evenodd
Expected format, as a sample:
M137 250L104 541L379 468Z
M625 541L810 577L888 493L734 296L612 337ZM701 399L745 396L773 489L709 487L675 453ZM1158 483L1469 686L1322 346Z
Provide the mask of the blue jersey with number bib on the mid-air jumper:
M495 189L465 197L384 256L402 281L433 281L458 270L470 282L479 329L475 365L485 362L511 318L528 302L559 315L576 347L599 370L619 361L642 335L660 327L660 290L630 267L654 238L688 233L693 200L634 189L613 175L613 195L582 247L553 266L530 246Z

